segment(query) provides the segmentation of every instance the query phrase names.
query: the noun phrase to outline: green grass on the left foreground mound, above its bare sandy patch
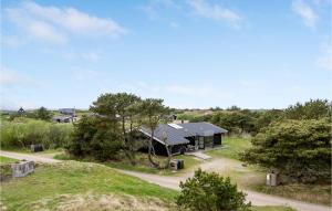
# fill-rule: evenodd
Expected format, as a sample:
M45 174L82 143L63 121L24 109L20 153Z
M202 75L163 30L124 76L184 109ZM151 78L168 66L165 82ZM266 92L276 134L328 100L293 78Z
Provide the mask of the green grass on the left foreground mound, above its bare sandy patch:
M9 210L33 210L33 202L51 200L60 194L129 194L174 202L177 191L129 177L103 165L64 161L43 165L35 172L1 183L1 202ZM53 202L52 202L53 200Z

